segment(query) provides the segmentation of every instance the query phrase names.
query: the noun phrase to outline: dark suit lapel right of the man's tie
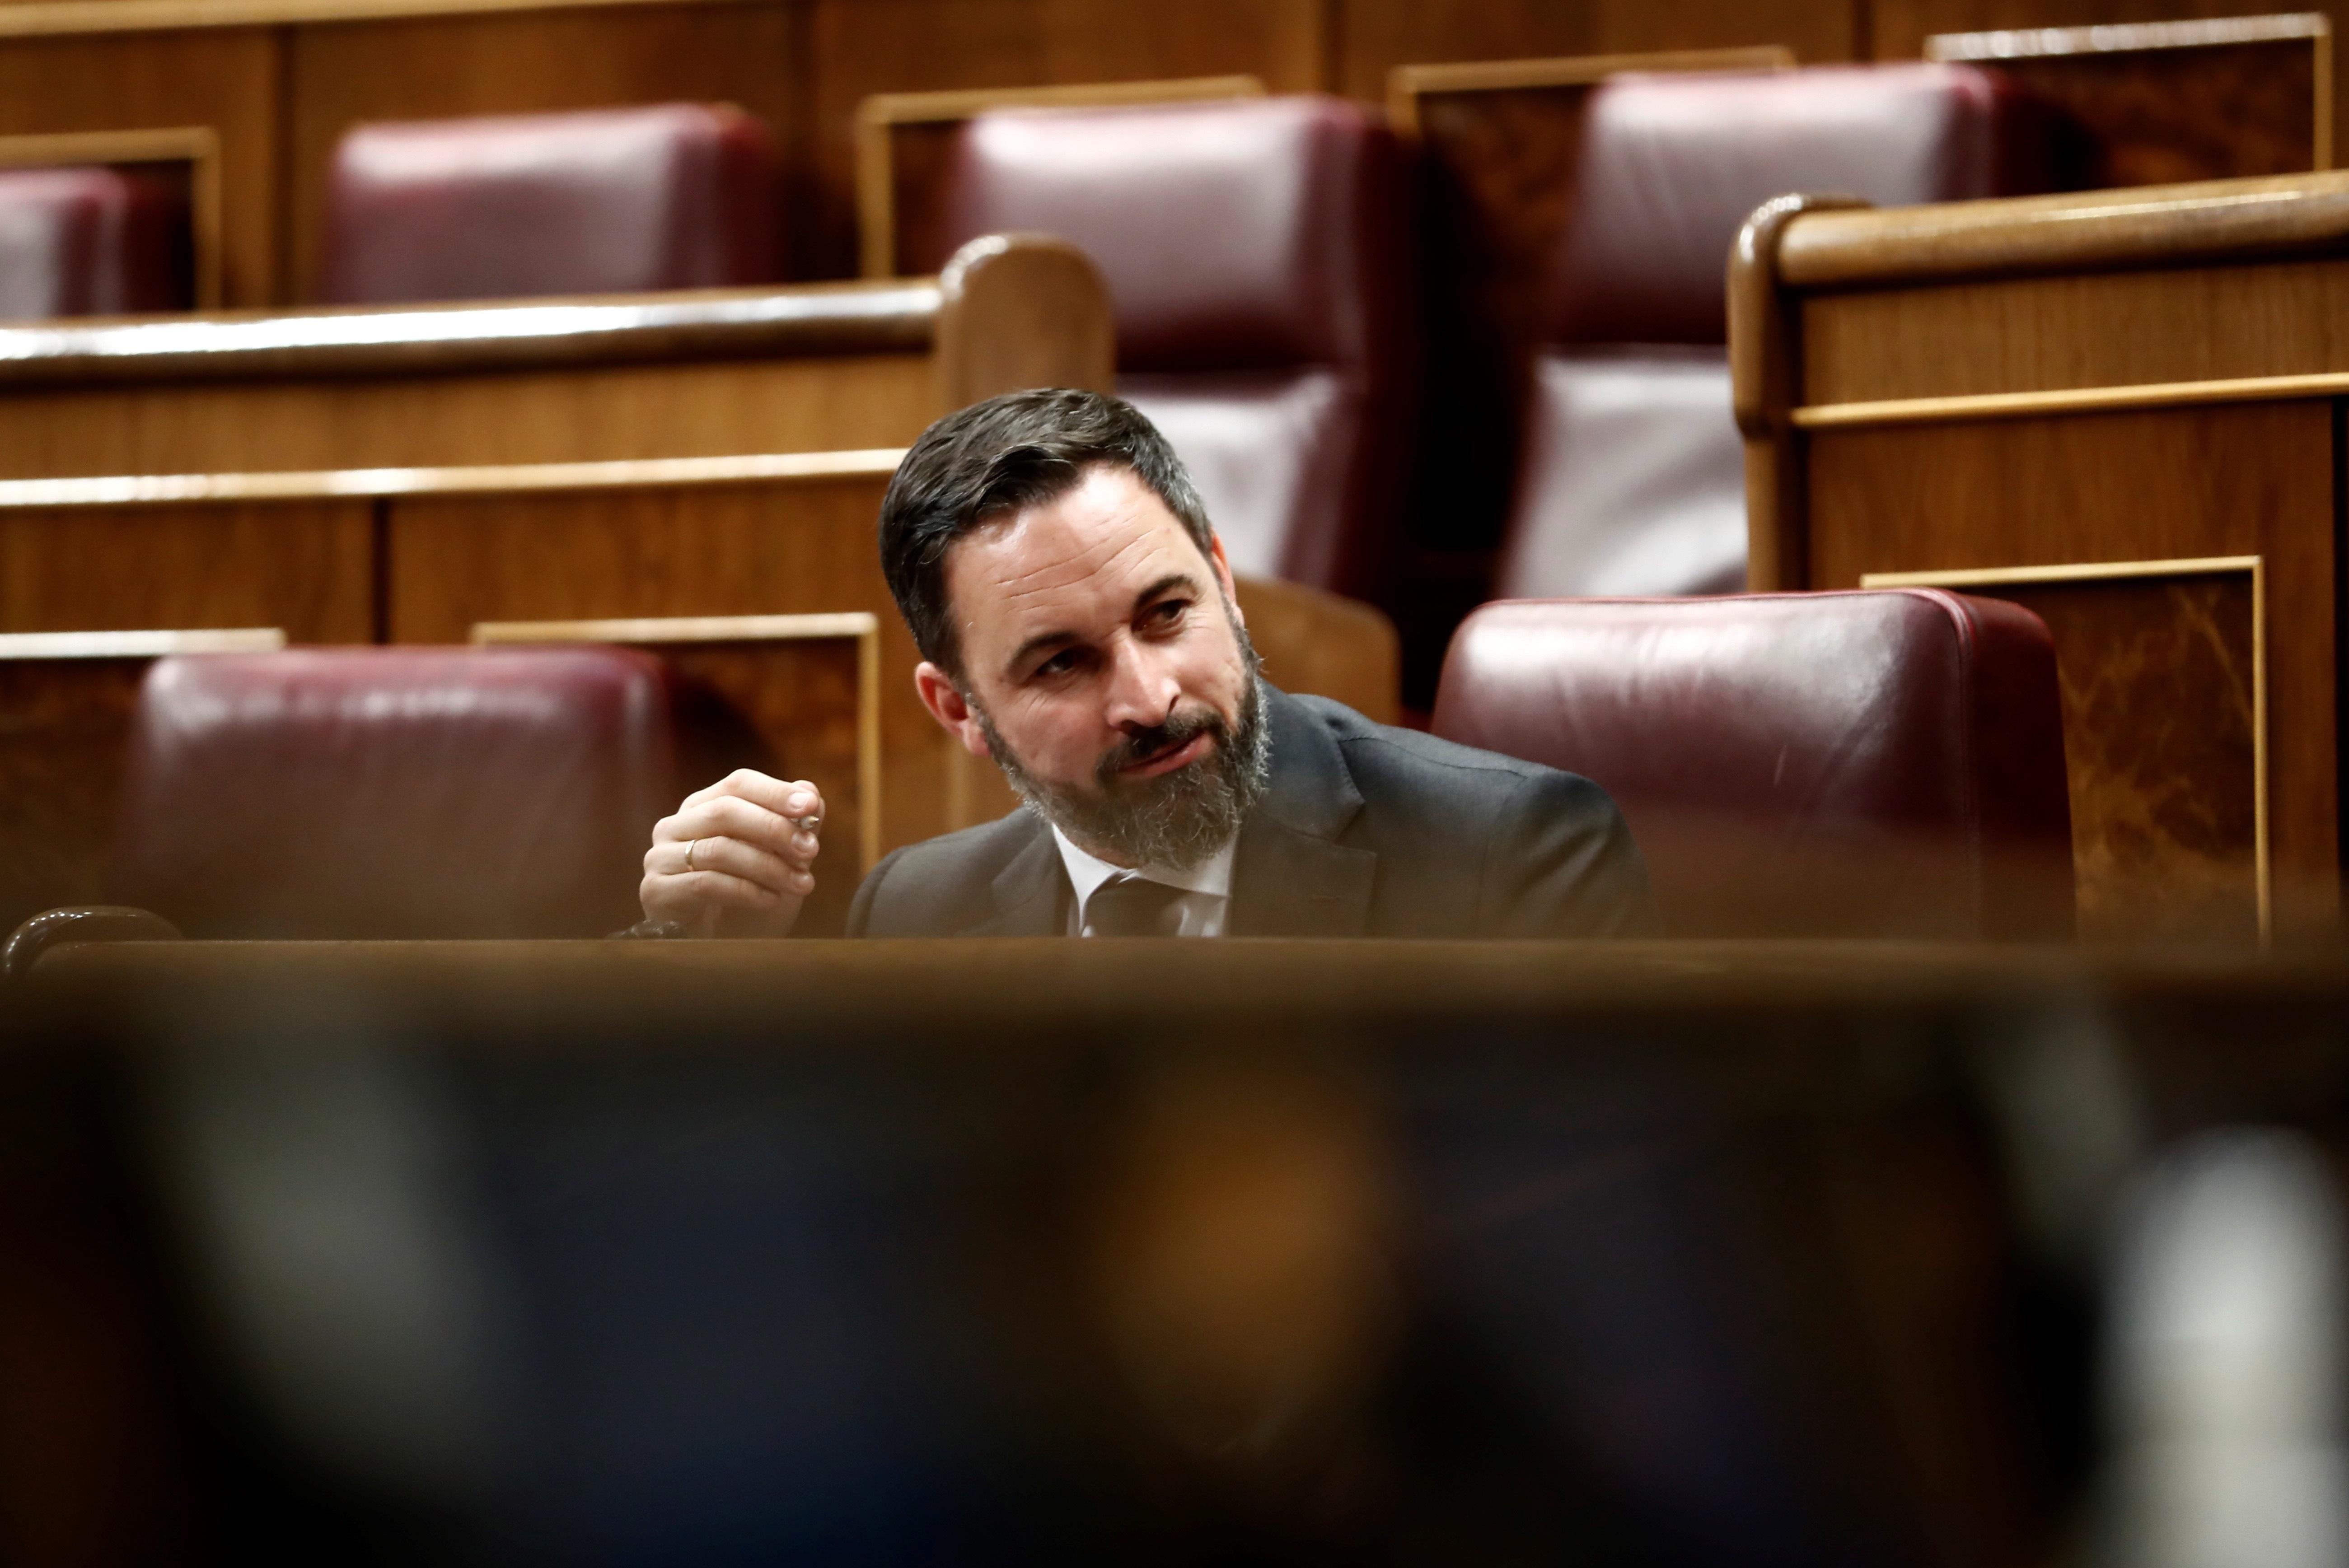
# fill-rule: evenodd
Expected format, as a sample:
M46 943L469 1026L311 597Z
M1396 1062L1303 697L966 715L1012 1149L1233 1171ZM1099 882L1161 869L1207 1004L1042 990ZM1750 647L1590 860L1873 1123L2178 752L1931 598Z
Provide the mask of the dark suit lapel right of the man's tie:
M1231 864L1233 937L1360 937L1379 876L1372 850L1339 840L1362 810L1346 756L1313 714L1264 688L1273 782Z

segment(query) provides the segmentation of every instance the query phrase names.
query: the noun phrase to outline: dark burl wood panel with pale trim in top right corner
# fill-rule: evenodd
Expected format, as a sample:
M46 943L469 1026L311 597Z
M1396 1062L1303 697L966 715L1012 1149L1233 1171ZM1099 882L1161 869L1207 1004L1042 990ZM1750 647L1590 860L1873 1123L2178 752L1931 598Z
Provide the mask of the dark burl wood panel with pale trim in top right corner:
M1987 63L2060 106L2055 183L2074 190L2323 169L2330 52L2323 16L1926 40L1929 59Z

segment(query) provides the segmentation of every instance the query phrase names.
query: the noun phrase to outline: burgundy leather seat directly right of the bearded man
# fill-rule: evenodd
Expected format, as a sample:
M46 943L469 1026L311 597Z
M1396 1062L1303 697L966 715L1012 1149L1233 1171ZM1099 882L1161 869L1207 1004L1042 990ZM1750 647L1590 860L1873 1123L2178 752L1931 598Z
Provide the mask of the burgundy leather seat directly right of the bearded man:
M1677 937L2072 934L2055 650L1999 599L1496 601L1435 732L1604 786Z

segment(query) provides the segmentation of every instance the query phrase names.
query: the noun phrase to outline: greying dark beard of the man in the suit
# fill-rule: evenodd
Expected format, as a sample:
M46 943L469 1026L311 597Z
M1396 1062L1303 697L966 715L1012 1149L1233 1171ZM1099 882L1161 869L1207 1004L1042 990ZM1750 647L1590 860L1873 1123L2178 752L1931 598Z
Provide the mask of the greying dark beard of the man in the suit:
M1273 775L1273 737L1264 723L1257 650L1238 622L1233 631L1247 662L1238 723L1226 725L1214 709L1174 711L1163 725L1128 735L1111 746L1092 770L1092 791L1045 784L1003 742L987 709L972 702L970 711L977 714L987 749L1010 786L1081 850L1125 866L1189 871L1231 843ZM1174 751L1203 732L1214 737L1205 756L1149 779L1120 777L1120 770Z

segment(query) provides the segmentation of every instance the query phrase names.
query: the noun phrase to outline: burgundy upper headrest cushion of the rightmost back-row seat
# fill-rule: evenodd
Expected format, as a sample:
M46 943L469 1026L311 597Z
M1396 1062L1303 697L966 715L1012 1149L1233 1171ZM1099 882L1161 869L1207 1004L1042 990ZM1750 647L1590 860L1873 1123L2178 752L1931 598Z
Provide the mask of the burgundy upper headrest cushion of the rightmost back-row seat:
M1738 228L1788 192L2041 190L2051 120L1978 66L1623 75L1590 94L1550 284L1560 343L1727 343Z

